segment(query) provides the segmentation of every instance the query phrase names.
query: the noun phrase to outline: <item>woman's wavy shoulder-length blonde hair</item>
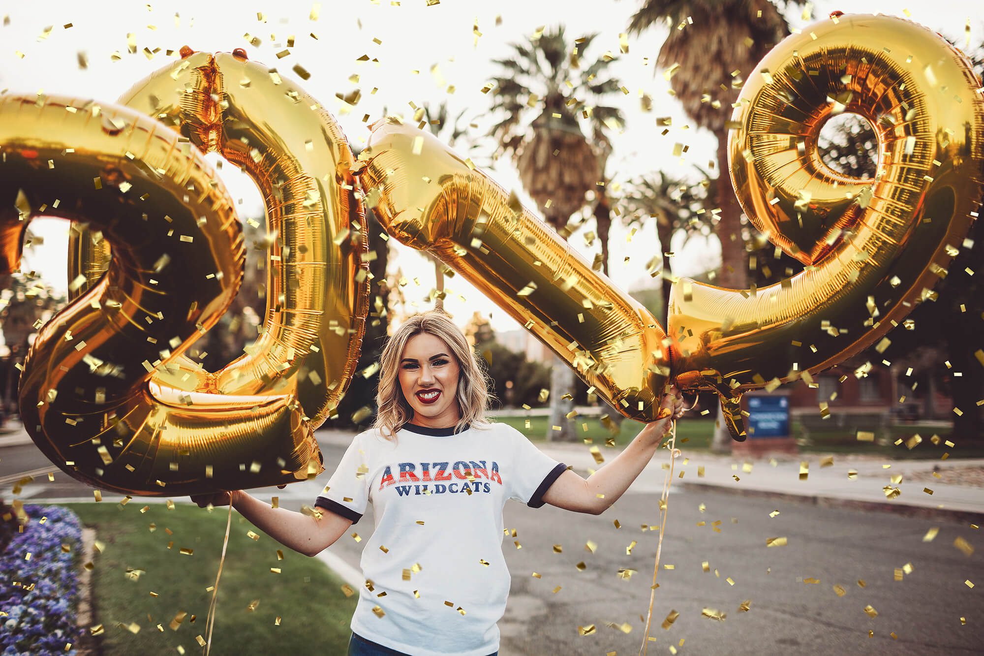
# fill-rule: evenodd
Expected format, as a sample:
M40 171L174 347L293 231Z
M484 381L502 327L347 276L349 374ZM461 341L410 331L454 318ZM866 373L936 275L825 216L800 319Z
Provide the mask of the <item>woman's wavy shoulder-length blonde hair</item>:
M458 361L459 378L455 398L461 411L461 420L455 430L465 425L487 428L492 423L485 417L485 411L493 394L486 382L484 360L476 357L464 333L451 318L440 310L430 310L410 316L386 343L380 357L379 388L376 392L376 413L374 428L387 439L395 440L397 431L413 418L413 408L403 396L400 387L400 356L406 343L414 335L429 333L448 345Z

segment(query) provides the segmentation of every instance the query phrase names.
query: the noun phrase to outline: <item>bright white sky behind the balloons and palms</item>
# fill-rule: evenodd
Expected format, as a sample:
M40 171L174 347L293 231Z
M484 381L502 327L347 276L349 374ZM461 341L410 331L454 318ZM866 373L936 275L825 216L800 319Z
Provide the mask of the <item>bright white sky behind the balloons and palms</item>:
M570 0L494 3L442 0L431 7L426 4L425 0L400 3L279 0L276 3L246 1L233 6L225 2L169 0L160 4L116 2L96 8L77 0L6 3L0 9L0 15L5 16L0 27L0 91L43 92L112 102L138 80L175 60L182 45L224 51L245 47L251 59L277 67L281 76L298 83L329 107L348 139L356 145L364 143L366 135L361 121L363 114L368 113L371 122L382 115L384 105L390 113L412 113L410 101L436 106L447 100L452 116L466 110L465 119L479 126L470 131L477 138L491 124L490 117L485 115L489 98L480 89L497 73L492 60L508 56L509 43L524 41L541 26L550 28L563 23L572 40L584 33L599 33L584 53L585 58L600 56L605 51L618 54L619 33L625 32L629 17L642 3L639 0L599 0L589 4ZM320 16L312 20L312 7L319 5ZM582 9L575 10L579 6ZM591 11L584 11L588 7ZM835 9L850 8L822 0L814 3L812 15L825 17ZM984 20L979 13L971 16L973 10L965 0L871 0L865 3L865 9L899 16L908 11L912 20L958 38L961 45L969 20L971 42L984 40ZM258 13L262 13L262 18L258 18ZM501 23L497 26L499 17ZM791 13L788 18L793 28L802 28L815 20L805 19L799 12ZM63 27L66 24L71 27L66 29ZM476 24L481 33L477 38ZM45 33L48 29L50 33ZM128 52L128 33L136 38L136 54ZM260 37L261 45L248 44L244 33ZM630 38L628 54L619 55L611 66L614 75L630 90L628 96L611 99L623 108L627 117L625 130L612 136L615 151L608 172L616 180L624 181L660 168L697 179L691 164L707 168L707 161L714 156L714 138L707 131L688 126L679 102L666 93L669 84L663 79L662 71L655 71L654 75L653 62L666 34L666 28L656 28L641 37ZM294 45L288 48L290 54L277 59L277 53L287 47L290 36L294 38ZM382 43L375 43L374 38ZM148 60L143 53L145 47L160 50ZM170 57L165 55L168 49L174 51ZM80 69L80 52L88 60L86 69ZM118 61L111 59L114 52L120 53ZM377 58L379 63L356 62L362 54ZM311 78L298 79L291 70L294 64L307 69ZM432 71L435 65L437 68ZM359 76L357 85L348 81L353 74ZM449 85L456 87L453 95L447 93ZM345 112L335 94L347 94L356 87L363 90L362 99L354 110ZM373 87L379 91L370 95ZM653 98L653 109L648 113L640 106L643 92ZM660 135L661 128L655 127L657 116L673 119L672 128L665 136ZM690 146L682 158L671 155L676 143ZM213 162L215 157L211 156ZM480 160L480 157L472 158ZM505 188L515 189L527 207L535 209L511 163L503 160L485 169ZM240 217L263 214L260 194L245 174L226 166L221 170L221 177L233 198L241 201ZM31 228L44 236L45 245L26 254L24 269L40 272L49 284L64 291L67 222L39 220ZM586 230L594 230L593 222L585 223L571 237L571 243L590 261L598 244L595 242L590 248L584 245ZM659 252L654 228L648 225L629 243L626 243L627 234L628 230L621 225L613 226L612 280L623 290L654 284L646 274L646 262ZM675 274L696 275L719 263L720 247L715 237L694 238L681 248L682 236L677 235L669 245L676 252ZM395 269L399 261L407 278L419 278L421 286L414 288L410 283L407 297L418 300L420 308L426 309L429 303L425 296L434 285L433 265L396 240L391 243L395 244L391 267ZM623 260L626 256L628 262ZM462 323L472 311L479 310L491 317L496 330L520 327L460 276L446 283L449 295L445 306L461 317Z

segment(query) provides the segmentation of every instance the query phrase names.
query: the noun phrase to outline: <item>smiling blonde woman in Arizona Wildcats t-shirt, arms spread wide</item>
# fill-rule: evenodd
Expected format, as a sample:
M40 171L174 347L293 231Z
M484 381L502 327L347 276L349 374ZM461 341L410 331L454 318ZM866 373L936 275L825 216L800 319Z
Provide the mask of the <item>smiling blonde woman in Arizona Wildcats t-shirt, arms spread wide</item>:
M284 546L316 556L361 519L376 526L362 553L366 584L349 656L498 654L510 574L502 554L509 498L600 514L625 492L683 413L647 424L586 481L516 428L489 423L485 375L461 330L440 311L407 319L380 359L374 426L357 434L315 501L320 518L272 508L242 491L193 496L233 507Z

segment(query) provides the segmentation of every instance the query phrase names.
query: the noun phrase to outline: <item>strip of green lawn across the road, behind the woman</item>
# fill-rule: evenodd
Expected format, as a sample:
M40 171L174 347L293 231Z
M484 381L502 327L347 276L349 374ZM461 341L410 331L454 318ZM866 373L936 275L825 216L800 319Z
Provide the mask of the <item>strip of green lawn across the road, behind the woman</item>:
M548 418L530 417L528 418L529 427L525 426L526 418L523 417L501 417L496 418L497 422L509 424L515 427L530 440L534 442L546 441ZM608 429L601 425L596 418L575 418L575 426L578 434L585 439L590 439L589 444L595 444L604 448L606 440L612 437ZM584 426L587 429L584 430ZM644 424L632 420L622 422L622 429L615 436L615 446L625 446L643 429ZM714 422L710 419L687 418L677 423L677 445L686 449L701 450L710 446L710 437L713 433ZM913 435L920 435L922 442L912 449L905 445L905 441ZM930 441L933 435L940 438L939 444ZM888 443L858 441L854 430L813 430L808 438L800 432L798 422L793 422L793 436L797 439L800 451L803 453L858 453L866 455L884 456L887 458L930 458L938 459L944 453L949 452L951 458L982 458L984 457L984 443L977 444L956 443L953 448L947 447L945 440L951 436L950 428L933 426L921 426L913 424L909 426L893 426L892 440ZM901 444L894 444L894 440L901 439ZM955 442L955 440L954 440ZM603 452L603 451L602 451Z

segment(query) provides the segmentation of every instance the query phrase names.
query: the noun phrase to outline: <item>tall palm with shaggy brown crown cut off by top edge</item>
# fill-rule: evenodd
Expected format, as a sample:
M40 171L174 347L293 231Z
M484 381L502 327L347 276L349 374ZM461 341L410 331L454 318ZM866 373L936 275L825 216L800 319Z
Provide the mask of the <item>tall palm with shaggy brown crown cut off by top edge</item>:
M665 24L656 64L679 66L670 85L687 114L717 137L716 232L721 241L721 269L715 283L727 288L748 287L745 241L741 238L741 207L727 174L728 129L731 103L738 98L744 76L782 38L789 25L780 13L802 0L644 0L632 17L628 32L638 34ZM731 439L718 420L711 448L729 451Z

